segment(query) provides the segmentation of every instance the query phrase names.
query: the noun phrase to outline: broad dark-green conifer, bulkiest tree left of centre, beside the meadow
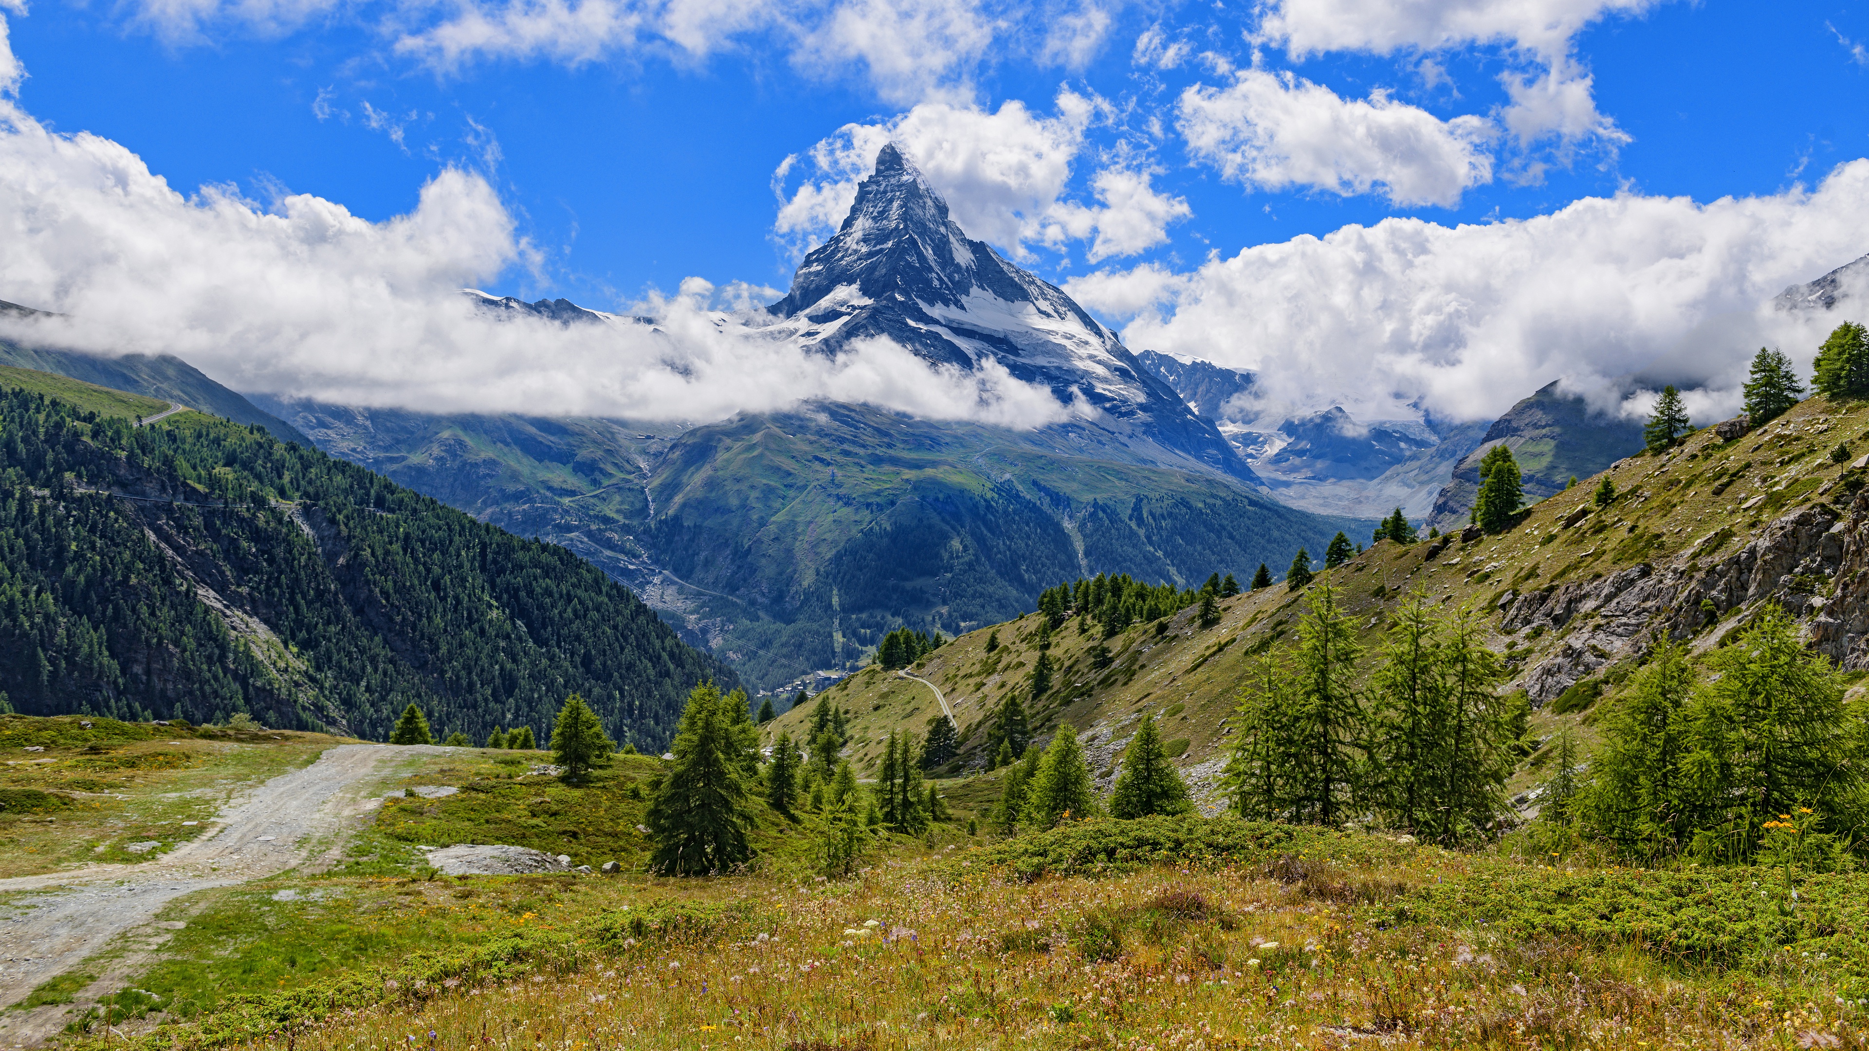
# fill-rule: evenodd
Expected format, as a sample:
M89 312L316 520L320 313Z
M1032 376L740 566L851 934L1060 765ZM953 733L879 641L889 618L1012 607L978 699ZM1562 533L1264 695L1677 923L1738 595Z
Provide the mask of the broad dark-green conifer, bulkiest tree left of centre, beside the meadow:
M656 871L727 871L753 857L748 842L751 785L729 705L736 701L721 698L714 683L701 683L688 694L675 733L675 763L643 817L656 842L650 857Z

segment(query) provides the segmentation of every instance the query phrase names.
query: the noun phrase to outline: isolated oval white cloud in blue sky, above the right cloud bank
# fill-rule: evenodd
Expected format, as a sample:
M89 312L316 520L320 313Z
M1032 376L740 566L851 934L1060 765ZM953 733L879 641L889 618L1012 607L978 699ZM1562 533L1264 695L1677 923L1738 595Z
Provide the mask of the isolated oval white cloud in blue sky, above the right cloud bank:
M1267 191L1351 194L1379 185L1394 204L1452 208L1493 178L1486 120L1439 120L1383 92L1342 99L1290 73L1245 69L1232 86L1185 90L1179 129L1194 159Z

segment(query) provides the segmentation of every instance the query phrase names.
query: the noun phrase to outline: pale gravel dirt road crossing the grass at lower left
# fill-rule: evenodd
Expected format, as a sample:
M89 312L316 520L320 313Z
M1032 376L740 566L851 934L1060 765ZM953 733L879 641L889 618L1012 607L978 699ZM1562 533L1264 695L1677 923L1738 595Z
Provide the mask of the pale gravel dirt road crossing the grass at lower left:
M196 890L275 875L314 860L314 853L335 857L350 819L366 810L368 789L417 752L443 748L340 744L235 799L207 834L151 862L0 879L0 894L9 898L0 905L0 1010L77 969L114 937L136 931L127 954L90 971L97 980L77 999L82 1004L118 991L168 939L155 924L163 905ZM26 894L15 898L17 892ZM65 1004L6 1012L0 1045L30 1047L65 1021Z

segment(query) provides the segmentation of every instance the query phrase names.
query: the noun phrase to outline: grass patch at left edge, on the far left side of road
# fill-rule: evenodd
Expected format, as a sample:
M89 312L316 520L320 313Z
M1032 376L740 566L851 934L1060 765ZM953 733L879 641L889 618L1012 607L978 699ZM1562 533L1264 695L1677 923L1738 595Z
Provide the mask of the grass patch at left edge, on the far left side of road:
M0 877L157 858L206 832L230 797L338 742L284 729L0 716ZM161 845L125 851L146 842Z

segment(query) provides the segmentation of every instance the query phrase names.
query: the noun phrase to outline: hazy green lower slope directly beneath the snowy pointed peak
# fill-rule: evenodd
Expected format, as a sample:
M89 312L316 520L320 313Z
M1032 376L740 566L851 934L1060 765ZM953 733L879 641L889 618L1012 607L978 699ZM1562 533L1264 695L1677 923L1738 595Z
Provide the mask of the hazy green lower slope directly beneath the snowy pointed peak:
M264 402L321 449L564 544L757 686L964 632L1080 572L1200 583L1372 524L1288 509L1116 430L815 404L695 428ZM1153 458L1151 458L1153 456Z

